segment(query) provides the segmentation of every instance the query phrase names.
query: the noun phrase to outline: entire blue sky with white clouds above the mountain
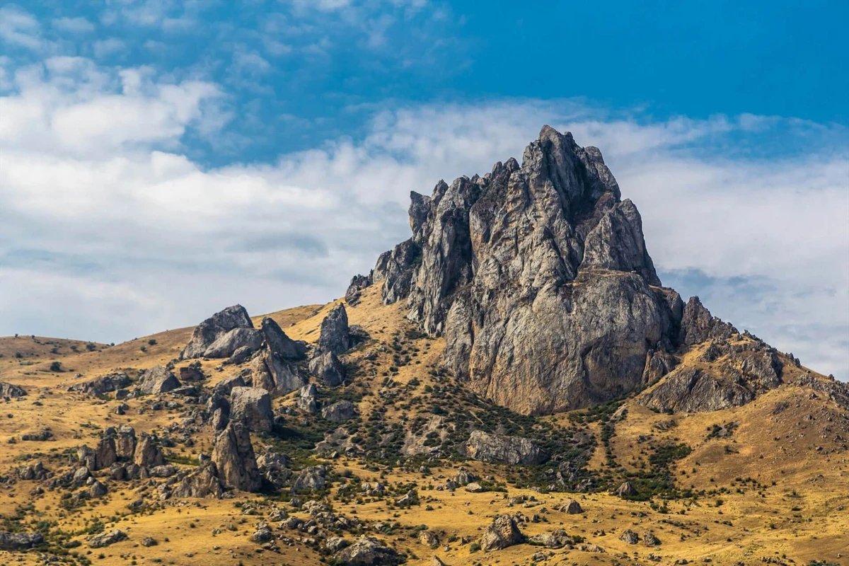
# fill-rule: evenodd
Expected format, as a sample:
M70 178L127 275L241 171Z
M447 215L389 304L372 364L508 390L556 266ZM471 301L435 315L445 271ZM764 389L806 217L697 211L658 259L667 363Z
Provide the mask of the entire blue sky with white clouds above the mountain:
M741 5L745 4L745 5ZM408 192L598 145L664 282L849 378L845 2L0 3L0 334L344 292Z

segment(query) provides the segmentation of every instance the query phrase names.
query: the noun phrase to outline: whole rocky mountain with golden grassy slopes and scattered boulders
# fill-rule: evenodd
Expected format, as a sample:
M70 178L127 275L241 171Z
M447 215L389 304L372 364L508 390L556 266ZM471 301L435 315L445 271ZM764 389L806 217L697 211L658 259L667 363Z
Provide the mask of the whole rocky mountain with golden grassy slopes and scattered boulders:
M599 149L409 217L344 300L0 339L0 563L849 563L849 388L663 287Z

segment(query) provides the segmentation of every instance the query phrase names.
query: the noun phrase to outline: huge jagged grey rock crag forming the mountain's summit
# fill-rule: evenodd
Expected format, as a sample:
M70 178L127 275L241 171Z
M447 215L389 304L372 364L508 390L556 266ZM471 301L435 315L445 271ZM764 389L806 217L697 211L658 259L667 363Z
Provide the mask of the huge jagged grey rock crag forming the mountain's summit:
M652 353L678 345L683 303L599 149L545 126L522 165L411 196L413 236L371 280L445 337L445 366L476 393L526 413L590 406L637 389Z

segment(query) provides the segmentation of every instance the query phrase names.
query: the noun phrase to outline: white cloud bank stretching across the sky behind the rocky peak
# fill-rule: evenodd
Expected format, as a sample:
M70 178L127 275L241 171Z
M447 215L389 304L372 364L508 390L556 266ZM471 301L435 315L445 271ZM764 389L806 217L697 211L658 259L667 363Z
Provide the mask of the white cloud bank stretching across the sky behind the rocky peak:
M153 4L115 17L164 21L143 6ZM37 48L38 23L4 15L5 41ZM0 59L0 69L0 334L119 341L236 302L260 314L331 300L408 237L410 190L520 158L549 123L602 149L665 283L849 378L849 159L838 126L658 121L571 100L395 105L356 139L209 167L187 140L228 125L215 81L68 56ZM784 151L752 150L777 139Z

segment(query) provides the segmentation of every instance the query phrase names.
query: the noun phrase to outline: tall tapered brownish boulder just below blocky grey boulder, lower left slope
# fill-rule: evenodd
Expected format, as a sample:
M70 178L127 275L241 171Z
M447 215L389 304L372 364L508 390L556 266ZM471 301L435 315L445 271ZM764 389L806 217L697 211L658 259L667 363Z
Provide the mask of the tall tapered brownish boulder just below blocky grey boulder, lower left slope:
M248 429L242 423L231 421L216 434L212 462L224 485L241 491L258 491L261 488L262 478L256 468L254 447L250 444Z

